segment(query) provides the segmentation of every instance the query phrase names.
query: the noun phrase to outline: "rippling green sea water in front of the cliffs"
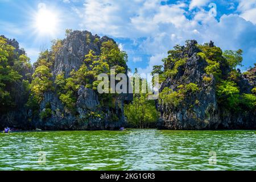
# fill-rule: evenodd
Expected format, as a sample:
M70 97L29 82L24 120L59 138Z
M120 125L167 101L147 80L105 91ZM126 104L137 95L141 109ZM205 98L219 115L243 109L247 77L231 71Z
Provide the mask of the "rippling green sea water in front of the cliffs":
M256 131L0 134L0 170L256 170Z

